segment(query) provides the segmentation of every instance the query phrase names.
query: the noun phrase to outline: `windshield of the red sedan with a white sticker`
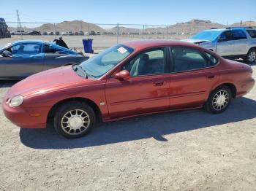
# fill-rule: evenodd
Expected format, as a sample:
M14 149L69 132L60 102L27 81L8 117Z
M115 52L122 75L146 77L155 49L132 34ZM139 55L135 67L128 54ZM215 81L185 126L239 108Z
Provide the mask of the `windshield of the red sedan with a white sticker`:
M81 63L81 66L89 77L99 78L110 71L110 69L113 69L124 58L127 58L132 52L133 49L131 47L117 44L99 53L99 55L95 55L89 60L84 61Z

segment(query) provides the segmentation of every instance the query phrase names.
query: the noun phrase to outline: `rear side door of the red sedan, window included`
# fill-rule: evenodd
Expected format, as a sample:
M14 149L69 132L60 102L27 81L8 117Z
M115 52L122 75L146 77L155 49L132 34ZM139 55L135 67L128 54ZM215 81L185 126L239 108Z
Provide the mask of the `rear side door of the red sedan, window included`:
M191 47L170 47L170 109L203 104L217 82L218 60L211 54Z

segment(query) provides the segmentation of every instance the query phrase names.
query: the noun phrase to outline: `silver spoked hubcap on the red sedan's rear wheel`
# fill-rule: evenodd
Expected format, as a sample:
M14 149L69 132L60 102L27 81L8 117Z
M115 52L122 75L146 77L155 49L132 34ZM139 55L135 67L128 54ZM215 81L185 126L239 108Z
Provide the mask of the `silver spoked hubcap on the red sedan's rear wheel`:
M225 109L229 102L229 95L226 90L219 90L213 98L212 106L215 110L220 111Z

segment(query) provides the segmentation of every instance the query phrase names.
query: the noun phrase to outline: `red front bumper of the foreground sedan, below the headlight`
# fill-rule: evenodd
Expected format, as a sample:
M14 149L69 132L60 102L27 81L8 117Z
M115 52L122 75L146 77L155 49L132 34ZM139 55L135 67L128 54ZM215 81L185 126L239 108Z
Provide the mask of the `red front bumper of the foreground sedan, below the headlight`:
M50 108L11 107L6 101L2 102L5 117L20 128L46 128ZM31 115L37 116L32 117Z

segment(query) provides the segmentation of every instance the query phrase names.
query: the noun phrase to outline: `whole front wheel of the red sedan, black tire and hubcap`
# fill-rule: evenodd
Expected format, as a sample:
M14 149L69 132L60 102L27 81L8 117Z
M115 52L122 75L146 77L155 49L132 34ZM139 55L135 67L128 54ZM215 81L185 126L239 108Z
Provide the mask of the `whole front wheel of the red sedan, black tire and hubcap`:
M69 101L57 109L54 128L61 136L75 139L85 136L94 127L94 110L81 101Z

